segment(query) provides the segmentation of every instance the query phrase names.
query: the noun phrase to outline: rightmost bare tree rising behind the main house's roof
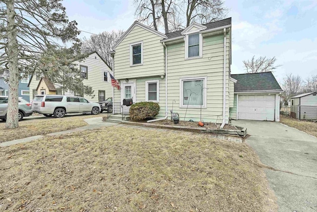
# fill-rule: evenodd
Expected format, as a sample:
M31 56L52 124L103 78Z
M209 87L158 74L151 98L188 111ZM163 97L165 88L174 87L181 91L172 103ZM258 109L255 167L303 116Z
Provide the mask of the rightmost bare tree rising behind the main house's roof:
M227 11L223 0L187 0L186 26L192 22L205 24L223 19Z

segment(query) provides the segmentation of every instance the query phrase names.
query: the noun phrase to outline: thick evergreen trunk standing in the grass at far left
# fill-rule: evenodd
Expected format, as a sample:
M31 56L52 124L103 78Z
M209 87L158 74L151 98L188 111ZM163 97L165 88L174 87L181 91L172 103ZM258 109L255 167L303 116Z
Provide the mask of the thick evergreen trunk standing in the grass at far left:
M19 88L19 70L18 70L18 44L16 40L15 11L14 1L6 3L7 20L7 39L8 39L8 68L9 68L9 99L8 110L6 114L5 128L17 128L18 124L18 88Z

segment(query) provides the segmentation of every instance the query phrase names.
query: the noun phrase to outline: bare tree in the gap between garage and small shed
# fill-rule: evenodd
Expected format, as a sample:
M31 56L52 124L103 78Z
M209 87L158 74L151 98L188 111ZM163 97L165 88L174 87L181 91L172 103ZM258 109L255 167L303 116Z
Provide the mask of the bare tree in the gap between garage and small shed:
M283 79L283 90L284 90L284 101L288 102L288 100L299 94L302 89L302 77L297 75L293 75L292 73L286 74Z

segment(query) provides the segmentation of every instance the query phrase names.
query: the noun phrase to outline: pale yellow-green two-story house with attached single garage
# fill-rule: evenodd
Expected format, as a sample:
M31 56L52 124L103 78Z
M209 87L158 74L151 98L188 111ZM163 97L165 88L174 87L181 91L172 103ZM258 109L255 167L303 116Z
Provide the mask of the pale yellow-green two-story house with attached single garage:
M122 104L124 98L132 98L134 102L158 102L160 111L156 118L170 118L170 110L173 110L181 121L227 124L229 117L239 118L238 95L235 95L237 80L230 73L231 18L203 25L192 23L184 30L168 34L136 21L108 54L114 59L114 77L121 86L121 89L113 88L114 104ZM261 82L261 74L250 76L254 75L246 75L243 79ZM273 79L268 83L276 84ZM239 87L242 86L239 84ZM257 90L256 83L254 87ZM256 92L261 98L250 97L255 94L254 90L239 90L240 95L250 95L250 98L241 97L241 101L259 100L252 104L256 106L243 109L244 113L253 113L254 116L241 115L240 118L278 121L278 112L275 111L279 105L276 99L280 87L268 90L270 87L267 86L265 91L264 85L261 89ZM267 106L273 115L267 114L266 106L261 105L262 95L268 95L267 92L273 94L273 105ZM259 111L262 115L256 116Z

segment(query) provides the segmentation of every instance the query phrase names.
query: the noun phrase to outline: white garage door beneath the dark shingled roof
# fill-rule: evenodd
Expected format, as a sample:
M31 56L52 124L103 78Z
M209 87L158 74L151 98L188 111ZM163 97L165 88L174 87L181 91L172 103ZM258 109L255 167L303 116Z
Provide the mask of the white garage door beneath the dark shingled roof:
M238 119L274 121L275 95L239 95Z

